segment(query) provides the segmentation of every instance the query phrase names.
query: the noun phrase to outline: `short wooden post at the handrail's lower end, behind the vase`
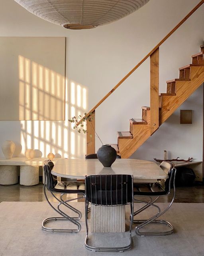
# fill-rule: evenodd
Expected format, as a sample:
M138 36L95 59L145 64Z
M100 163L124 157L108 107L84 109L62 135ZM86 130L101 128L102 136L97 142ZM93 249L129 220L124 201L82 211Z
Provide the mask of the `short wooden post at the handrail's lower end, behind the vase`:
M95 110L92 112L92 115L89 117L93 117L91 122L87 121L86 125L86 154L94 154L95 153ZM90 134L92 137L90 137Z

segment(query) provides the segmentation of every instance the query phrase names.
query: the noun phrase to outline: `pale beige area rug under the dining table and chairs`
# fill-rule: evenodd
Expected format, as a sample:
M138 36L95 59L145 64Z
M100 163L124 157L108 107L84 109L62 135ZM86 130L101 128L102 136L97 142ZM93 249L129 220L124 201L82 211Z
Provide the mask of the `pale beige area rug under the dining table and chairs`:
M84 214L84 203L73 203ZM166 203L158 204L161 208ZM135 208L138 208L135 204ZM151 209L142 218L151 216ZM204 255L204 204L175 203L163 215L170 221L175 233L169 236L139 237L133 225L132 249L122 253L92 252L84 247L85 223L77 234L57 234L41 230L44 218L57 216L46 202L0 203L0 256L203 256ZM65 225L55 222L53 225ZM66 222L68 225L69 222ZM160 225L160 224L159 224ZM163 226L160 226L163 228ZM127 232L126 232L127 233ZM96 234L92 242L105 246L126 242L126 233Z

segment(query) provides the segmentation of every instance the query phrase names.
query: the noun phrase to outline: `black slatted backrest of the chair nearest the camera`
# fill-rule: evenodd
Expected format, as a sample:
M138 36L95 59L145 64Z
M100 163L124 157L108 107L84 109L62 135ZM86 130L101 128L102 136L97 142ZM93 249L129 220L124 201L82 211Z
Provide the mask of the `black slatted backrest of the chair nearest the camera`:
M131 175L94 175L86 177L86 200L96 205L132 202Z

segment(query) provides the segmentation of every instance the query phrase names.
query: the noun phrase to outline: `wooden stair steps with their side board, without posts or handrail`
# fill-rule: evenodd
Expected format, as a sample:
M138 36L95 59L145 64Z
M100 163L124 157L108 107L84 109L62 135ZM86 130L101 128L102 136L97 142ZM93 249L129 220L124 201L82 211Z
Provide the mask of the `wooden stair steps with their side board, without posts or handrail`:
M167 93L159 94L159 126L204 82L204 45L192 55L192 64L179 68L179 78L167 81ZM129 120L129 132L117 132L112 146L122 158L129 158L151 136L151 108L142 108L142 119Z

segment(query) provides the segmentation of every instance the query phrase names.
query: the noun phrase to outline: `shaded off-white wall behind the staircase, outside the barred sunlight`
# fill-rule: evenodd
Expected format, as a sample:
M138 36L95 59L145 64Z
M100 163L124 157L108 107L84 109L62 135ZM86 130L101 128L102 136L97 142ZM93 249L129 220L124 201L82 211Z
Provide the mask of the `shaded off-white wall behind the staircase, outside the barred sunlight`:
M123 78L199 1L150 0L143 8L122 20L91 30L73 31L30 14L13 0L0 0L0 36L66 36L67 78L88 90L92 108ZM178 68L191 62L204 40L204 6L160 48L160 91L166 80L179 76ZM116 131L129 130L129 118L141 118L141 106L149 105L149 60L96 110L96 129L104 143L116 143ZM193 110L193 124L179 124L179 110ZM199 88L141 146L132 158L162 158L163 150L172 157L189 156L202 160L202 88ZM70 112L69 112L70 114ZM20 142L18 121L0 122L0 144L5 139ZM69 130L69 132L71 132ZM51 149L57 151L59 147ZM66 142L65 142L66 144ZM61 150L68 157L83 157L78 141L75 152ZM97 148L100 143L97 142ZM65 152L66 151L66 152ZM47 154L48 152L45 152ZM0 153L2 156L2 152ZM170 154L169 154L170 156Z

